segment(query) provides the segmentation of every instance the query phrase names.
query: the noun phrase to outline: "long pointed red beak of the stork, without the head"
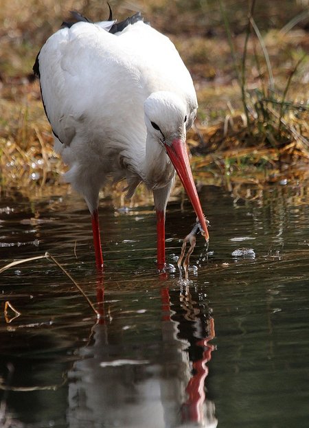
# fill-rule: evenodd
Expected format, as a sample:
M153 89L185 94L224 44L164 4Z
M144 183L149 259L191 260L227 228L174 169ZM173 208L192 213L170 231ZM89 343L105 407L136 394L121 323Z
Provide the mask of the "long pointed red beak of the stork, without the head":
M172 140L172 145L168 146L168 144L166 144L165 148L177 174L179 175L179 178L181 179L181 183L183 183L183 187L185 188L185 191L190 198L190 201L194 207L194 211L196 212L196 216L198 216L198 221L201 223L201 226L204 229L205 240L208 241L209 234L207 225L201 207L201 202L198 199L198 194L196 192L185 143L181 141L181 139L175 138Z

